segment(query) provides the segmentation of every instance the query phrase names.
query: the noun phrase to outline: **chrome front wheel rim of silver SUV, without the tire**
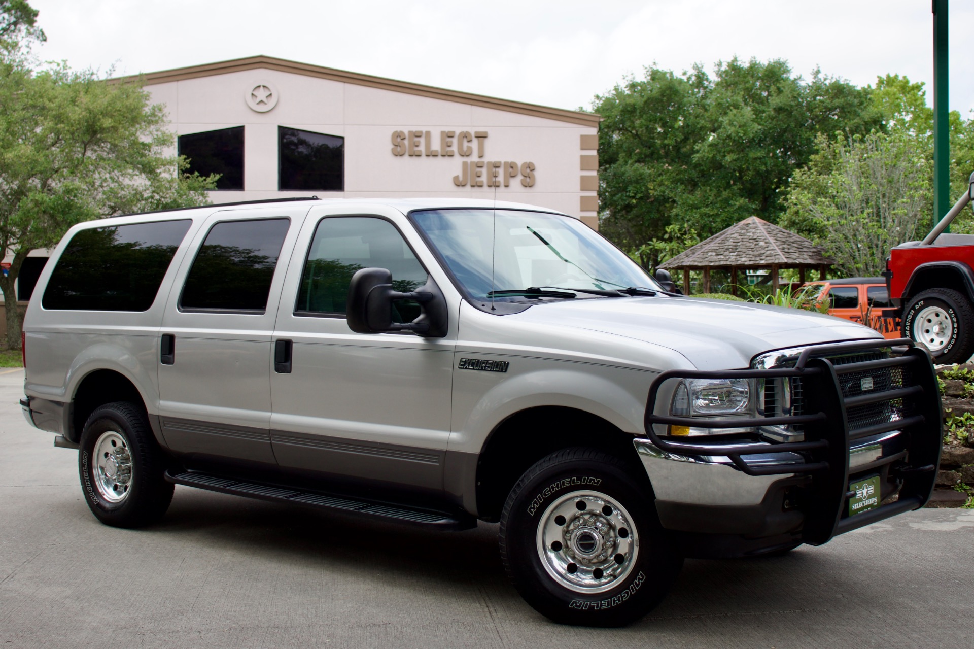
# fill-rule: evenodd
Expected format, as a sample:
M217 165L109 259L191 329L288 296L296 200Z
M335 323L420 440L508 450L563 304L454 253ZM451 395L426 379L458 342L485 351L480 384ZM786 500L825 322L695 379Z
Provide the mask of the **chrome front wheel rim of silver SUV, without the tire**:
M632 517L597 491L575 491L555 500L538 527L544 569L575 592L615 588L632 571L638 553Z

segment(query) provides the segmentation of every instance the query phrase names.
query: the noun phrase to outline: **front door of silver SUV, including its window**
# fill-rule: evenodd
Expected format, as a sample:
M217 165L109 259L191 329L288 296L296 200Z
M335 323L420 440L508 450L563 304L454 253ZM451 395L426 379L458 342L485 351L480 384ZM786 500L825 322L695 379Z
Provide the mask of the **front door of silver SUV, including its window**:
M278 361L286 363L276 363L271 374L271 437L281 467L439 491L455 323L447 338L423 338L356 333L345 319L349 282L359 268L389 269L397 290L427 282L427 269L394 216L326 208L309 215L274 336ZM399 303L395 315L410 322L419 307Z

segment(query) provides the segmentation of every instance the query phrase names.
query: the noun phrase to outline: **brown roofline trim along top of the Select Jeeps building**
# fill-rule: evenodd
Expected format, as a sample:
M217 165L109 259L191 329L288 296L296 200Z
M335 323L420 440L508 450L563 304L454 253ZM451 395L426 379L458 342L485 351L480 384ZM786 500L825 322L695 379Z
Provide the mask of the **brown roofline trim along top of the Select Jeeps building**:
M523 101L511 101L510 99L500 99L487 95L473 95L471 93L461 93L459 91L436 88L434 86L424 86L421 84L398 81L396 79L386 79L384 77L374 77L368 74L359 74L347 70L338 70L332 67L312 65L310 63L300 63L293 60L275 57L244 57L223 60L215 63L204 63L203 65L190 65L189 67L178 67L171 70L161 70L159 72L146 72L144 74L133 74L125 77L117 77L112 81L135 81L139 80L147 86L165 84L173 81L183 81L185 79L197 79L209 77L217 74L228 74L230 72L243 72L245 70L269 69L279 72L289 72L300 74L306 77L317 79L328 79L329 81L339 81L356 86L367 86L379 90L393 91L394 93L405 93L407 95L427 96L433 99L444 101L455 101L466 103L472 106L483 108L493 108L504 110L521 115L531 115L542 117L543 119L568 122L587 127L598 127L602 121L601 116L596 113L586 113L578 110L565 110L563 108L551 108L550 106L540 106Z

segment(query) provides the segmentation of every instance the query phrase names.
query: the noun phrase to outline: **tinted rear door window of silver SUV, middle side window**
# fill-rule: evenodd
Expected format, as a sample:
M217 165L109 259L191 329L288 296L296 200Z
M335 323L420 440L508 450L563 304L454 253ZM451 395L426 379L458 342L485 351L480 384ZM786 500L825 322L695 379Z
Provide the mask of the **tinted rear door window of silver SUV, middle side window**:
M264 311L289 225L286 218L214 225L189 270L179 306Z

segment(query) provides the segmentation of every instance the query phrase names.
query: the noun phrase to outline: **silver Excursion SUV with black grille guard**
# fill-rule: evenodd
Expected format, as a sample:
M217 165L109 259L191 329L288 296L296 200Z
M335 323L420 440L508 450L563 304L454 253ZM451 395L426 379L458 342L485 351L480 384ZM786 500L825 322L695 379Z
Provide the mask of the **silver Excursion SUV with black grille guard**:
M570 624L638 619L684 556L787 552L917 509L940 453L910 341L677 294L525 205L295 199L83 223L24 331L24 415L80 449L103 522L151 523L173 484L500 521L518 591Z

